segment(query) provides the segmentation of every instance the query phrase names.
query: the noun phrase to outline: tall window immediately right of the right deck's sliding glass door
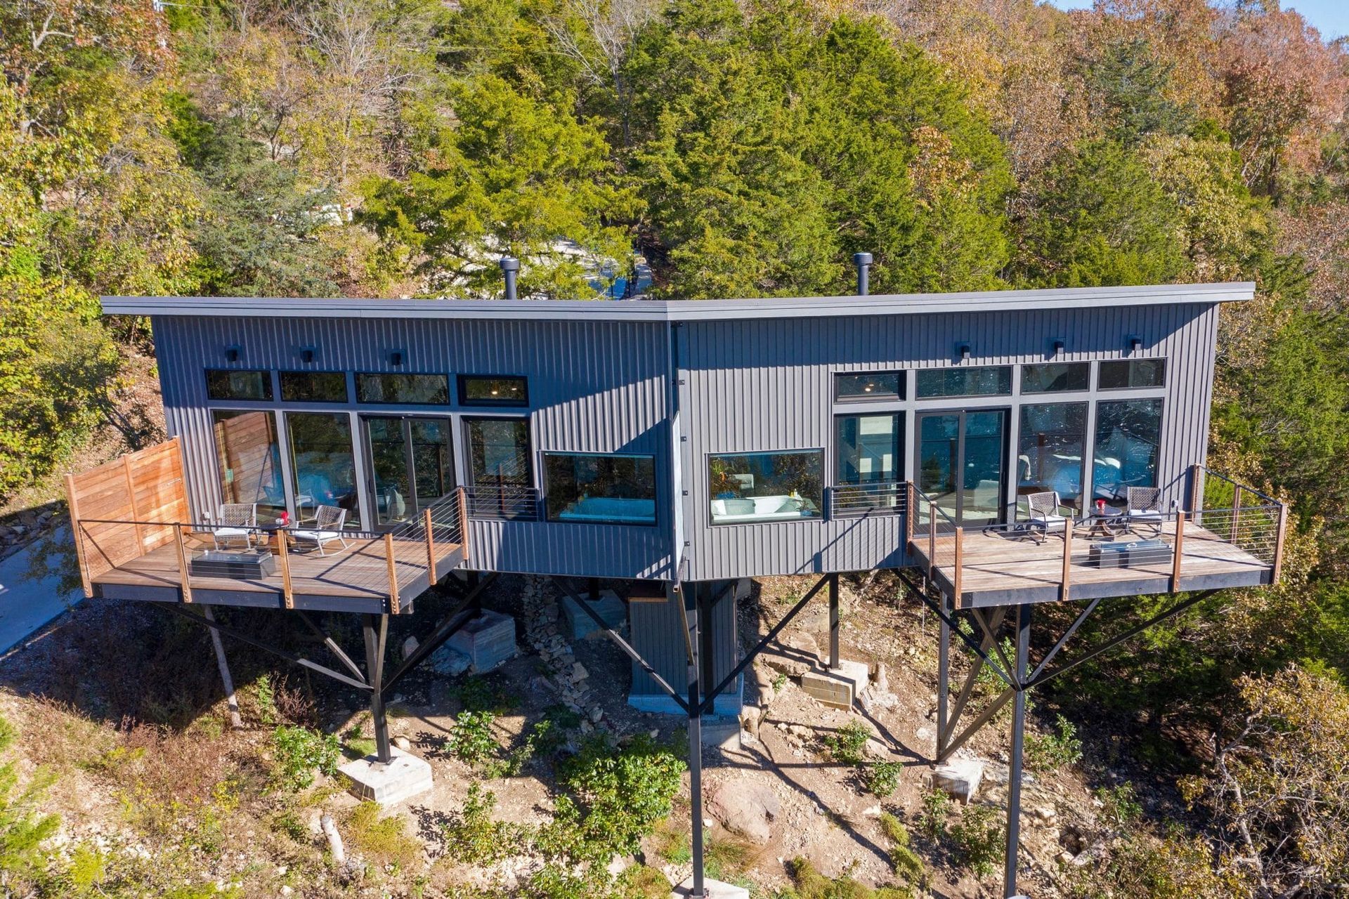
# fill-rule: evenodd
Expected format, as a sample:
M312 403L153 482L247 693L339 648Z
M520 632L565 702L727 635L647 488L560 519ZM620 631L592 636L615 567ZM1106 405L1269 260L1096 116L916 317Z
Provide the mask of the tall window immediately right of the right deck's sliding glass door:
M1081 508L1086 439L1086 403L1023 406L1017 493L1058 491L1066 505Z

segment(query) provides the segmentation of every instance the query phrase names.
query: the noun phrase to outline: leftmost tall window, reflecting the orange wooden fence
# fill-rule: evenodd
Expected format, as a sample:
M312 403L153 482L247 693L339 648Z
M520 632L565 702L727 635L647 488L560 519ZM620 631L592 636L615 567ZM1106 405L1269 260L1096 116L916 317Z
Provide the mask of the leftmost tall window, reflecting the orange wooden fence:
M213 410L210 419L216 433L220 496L225 503L256 503L259 523L281 518L286 511L286 491L274 415Z

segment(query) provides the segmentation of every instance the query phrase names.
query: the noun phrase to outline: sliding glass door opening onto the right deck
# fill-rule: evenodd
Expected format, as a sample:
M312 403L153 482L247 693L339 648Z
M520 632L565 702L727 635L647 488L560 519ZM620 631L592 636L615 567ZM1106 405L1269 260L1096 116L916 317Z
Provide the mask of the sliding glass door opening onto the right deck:
M919 412L919 489L959 524L1002 520L1006 419L1001 408Z

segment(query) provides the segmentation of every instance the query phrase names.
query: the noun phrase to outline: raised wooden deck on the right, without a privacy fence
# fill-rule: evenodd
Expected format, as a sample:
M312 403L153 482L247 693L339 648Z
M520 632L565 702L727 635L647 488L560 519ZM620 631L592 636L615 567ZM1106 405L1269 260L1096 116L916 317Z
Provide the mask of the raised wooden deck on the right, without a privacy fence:
M1027 531L971 527L962 535L959 574L955 565L954 534L939 534L929 549L925 535L915 535L911 558L925 570L936 559L932 581L946 596L955 596L956 608L979 608L1060 598L1140 596L1186 590L1257 586L1275 580L1275 563L1264 561L1193 522L1184 523L1180 565L1175 566L1176 522L1161 524L1168 549L1149 559L1125 567L1102 567L1091 557L1093 539L1079 531L1064 559L1062 534L1050 534L1036 543ZM1152 531L1126 532L1110 538L1135 540L1156 538ZM931 553L931 555L929 555ZM1064 596L1063 582L1068 586ZM959 588L956 588L959 581ZM1172 582L1175 581L1175 582Z

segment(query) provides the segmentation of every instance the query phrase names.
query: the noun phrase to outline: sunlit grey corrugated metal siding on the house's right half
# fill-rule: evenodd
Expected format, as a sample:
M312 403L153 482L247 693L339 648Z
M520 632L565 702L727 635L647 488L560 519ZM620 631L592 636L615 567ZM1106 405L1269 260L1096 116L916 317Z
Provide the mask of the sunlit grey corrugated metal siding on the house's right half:
M1166 357L1159 483L1167 487L1167 501L1183 497L1186 469L1205 460L1207 446L1217 310L1217 305L1117 306L683 325L688 577L701 581L902 565L900 518L711 524L707 454L824 447L826 484L831 484L832 416L844 411L832 403L832 375L950 367L956 364L962 342L971 346L971 367ZM1136 354L1129 350L1130 336L1143 340ZM1051 359L1056 338L1066 341L1066 349ZM1137 395L1110 391L1101 399ZM1013 396L898 403L907 412L905 477L913 476L915 410L1018 402ZM1041 394L1028 402L1063 400ZM1016 418L1013 414L1013 434ZM1009 483L1005 500L1014 501L1014 483Z

